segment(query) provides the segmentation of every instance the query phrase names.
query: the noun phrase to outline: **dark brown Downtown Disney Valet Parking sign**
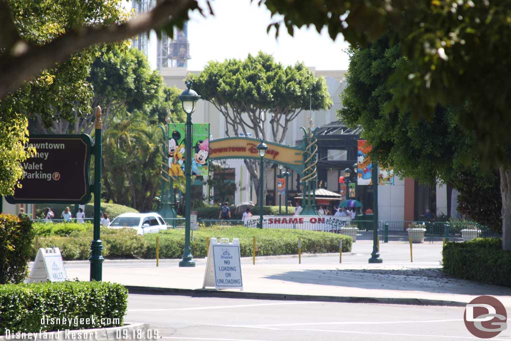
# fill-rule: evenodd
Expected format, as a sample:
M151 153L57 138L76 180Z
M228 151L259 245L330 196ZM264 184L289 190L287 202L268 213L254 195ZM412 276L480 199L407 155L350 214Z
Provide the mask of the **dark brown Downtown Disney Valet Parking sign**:
M25 146L35 156L22 163L21 188L10 203L87 203L90 201L92 139L81 135L32 135Z

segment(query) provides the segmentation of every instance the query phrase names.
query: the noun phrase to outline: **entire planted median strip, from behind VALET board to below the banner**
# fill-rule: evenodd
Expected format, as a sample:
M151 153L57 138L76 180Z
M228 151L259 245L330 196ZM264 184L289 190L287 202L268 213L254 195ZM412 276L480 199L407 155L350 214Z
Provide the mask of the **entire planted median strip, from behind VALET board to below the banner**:
M62 223L64 224L64 223ZM89 257L92 229L69 226L65 229L60 224L52 224L50 230L38 228L43 236L37 237L34 246L59 247L64 260L86 260ZM69 224L71 225L71 224ZM79 224L75 224L79 225ZM90 225L89 225L90 226ZM108 259L116 258L146 258L156 257L156 236L159 236L160 258L181 258L184 249L184 230L166 230L158 234L137 236L133 229L113 230L101 229L103 240L103 256ZM298 238L301 239L301 252L327 253L339 252L339 240L342 238L343 252L350 252L352 238L329 232L301 231L288 229L252 229L243 226L210 226L199 228L193 232L192 254L196 258L206 256L206 238L233 238L240 240L242 257L252 255L253 237L256 242L257 256L293 255L298 253ZM35 248L33 258L35 257Z

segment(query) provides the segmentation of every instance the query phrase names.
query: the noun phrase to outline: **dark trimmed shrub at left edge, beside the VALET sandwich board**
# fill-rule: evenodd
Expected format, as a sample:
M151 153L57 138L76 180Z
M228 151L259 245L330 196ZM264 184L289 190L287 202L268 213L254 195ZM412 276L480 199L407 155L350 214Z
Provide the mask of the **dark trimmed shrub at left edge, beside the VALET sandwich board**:
M27 277L33 239L30 219L0 214L0 284L19 283Z

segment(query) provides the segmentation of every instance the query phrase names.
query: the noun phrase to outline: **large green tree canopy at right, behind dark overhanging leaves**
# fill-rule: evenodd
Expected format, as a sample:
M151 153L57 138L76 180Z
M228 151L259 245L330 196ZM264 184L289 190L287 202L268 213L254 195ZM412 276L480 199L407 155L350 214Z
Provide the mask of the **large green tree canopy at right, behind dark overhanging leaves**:
M410 110L385 110L397 92L389 78L407 63L399 44L390 45L385 36L368 48L352 49L350 55L339 113L351 126L364 128L381 165L433 186L440 179L460 192L462 213L500 230L495 202L499 181L477 164L464 162L475 140L456 122L455 111L438 107L431 120L414 120Z

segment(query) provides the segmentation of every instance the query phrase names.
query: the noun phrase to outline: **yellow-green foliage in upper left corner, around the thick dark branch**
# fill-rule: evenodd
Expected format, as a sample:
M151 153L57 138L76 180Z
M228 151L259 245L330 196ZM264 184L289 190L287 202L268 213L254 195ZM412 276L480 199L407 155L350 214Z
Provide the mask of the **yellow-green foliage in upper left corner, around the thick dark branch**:
M96 4L97 8L87 12L85 5L75 2L35 2L35 1L5 1L0 2L0 16L10 15L18 40L18 49L23 50L24 41L31 47L39 47L55 39L59 34L71 29L73 25L84 22L104 21L113 24L122 20L124 12L109 5L117 0L109 0ZM73 7L75 6L76 7ZM91 5L91 6L96 6ZM8 6L10 11L4 11ZM73 12L71 16L70 12ZM0 25L8 25L2 22ZM2 35L12 33L7 29ZM9 41L0 43L0 65L12 57L6 49ZM19 51L22 53L22 51ZM57 54L55 51L52 53ZM92 95L91 86L86 81L89 68L94 61L96 48L87 48L75 52L71 58L61 63L51 65L51 69L38 70L38 75L24 85L14 88L8 96L0 100L0 144L2 150L0 162L0 194L12 194L17 180L22 175L21 162L30 155L30 150L24 150L27 142L27 118L40 117L42 124L51 125L54 121L69 119L73 115L83 115L89 111L89 100ZM3 65L4 66L4 65ZM2 66L2 67L3 67ZM13 66L14 67L14 66ZM15 68L19 67L16 65ZM13 70L2 69L4 75ZM18 69L19 71L19 69ZM6 81L2 86L10 86Z

